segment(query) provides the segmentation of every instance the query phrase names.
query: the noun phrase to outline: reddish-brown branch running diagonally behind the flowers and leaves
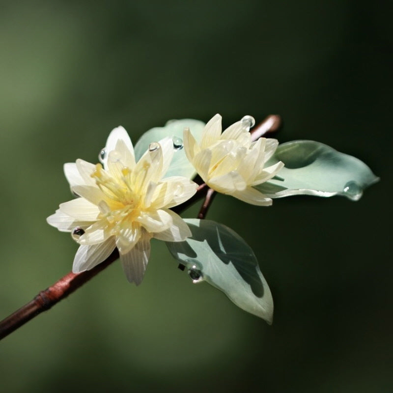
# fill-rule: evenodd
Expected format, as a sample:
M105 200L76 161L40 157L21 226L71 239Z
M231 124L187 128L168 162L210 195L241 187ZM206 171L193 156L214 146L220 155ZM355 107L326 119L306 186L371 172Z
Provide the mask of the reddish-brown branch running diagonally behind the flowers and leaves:
M257 140L266 133L276 132L280 125L280 116L270 115L266 117L251 131L253 140ZM200 184L197 188L197 193L181 205L173 207L172 210L176 213L181 213L197 200L205 197L198 214L199 219L204 219L216 193L205 183L202 183L200 177L197 176L195 181ZM48 289L41 291L31 302L27 303L25 306L21 307L7 318L0 321L0 339L8 336L10 333L24 325L36 315L53 307L60 300L73 293L85 282L89 281L96 274L104 270L118 257L119 253L116 249L104 262L101 262L93 269L82 273L68 273L66 276L56 281L55 284L50 286Z

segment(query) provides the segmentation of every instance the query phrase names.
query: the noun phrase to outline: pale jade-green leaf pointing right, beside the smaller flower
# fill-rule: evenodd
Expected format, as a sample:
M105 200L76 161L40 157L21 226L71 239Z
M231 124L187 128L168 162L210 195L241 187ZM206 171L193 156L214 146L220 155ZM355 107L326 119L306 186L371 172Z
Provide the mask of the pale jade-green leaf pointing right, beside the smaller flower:
M379 180L361 160L313 140L280 144L266 166L279 161L285 166L277 176L255 186L272 198L307 194L358 200L366 187Z

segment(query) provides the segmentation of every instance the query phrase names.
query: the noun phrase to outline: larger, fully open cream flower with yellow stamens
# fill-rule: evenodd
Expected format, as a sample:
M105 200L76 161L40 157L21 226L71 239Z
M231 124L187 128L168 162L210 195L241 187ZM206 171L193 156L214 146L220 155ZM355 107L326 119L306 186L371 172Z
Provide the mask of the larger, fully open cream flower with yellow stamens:
M60 231L73 232L81 245L74 273L93 268L117 247L127 279L138 285L152 237L179 242L191 236L186 223L169 208L192 197L197 184L181 176L163 178L172 156L173 143L166 138L150 143L136 163L130 137L117 127L102 151L103 165L80 159L64 165L79 198L60 204L47 221Z

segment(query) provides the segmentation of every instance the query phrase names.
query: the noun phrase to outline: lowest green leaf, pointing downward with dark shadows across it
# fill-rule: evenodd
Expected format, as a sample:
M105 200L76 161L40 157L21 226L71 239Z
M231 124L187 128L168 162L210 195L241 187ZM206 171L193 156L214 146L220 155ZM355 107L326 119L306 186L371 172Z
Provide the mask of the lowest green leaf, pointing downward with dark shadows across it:
M192 236L167 245L193 281L208 282L240 308L272 323L272 294L250 246L225 225L209 220L184 221Z

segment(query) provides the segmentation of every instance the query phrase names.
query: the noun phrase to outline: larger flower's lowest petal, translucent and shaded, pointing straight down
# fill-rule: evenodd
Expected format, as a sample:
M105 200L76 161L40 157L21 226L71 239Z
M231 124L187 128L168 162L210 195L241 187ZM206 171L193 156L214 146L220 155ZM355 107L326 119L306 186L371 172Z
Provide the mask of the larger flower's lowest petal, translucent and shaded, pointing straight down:
M142 282L149 256L150 236L147 234L128 253L120 253L121 264L129 282L135 282L136 285Z

